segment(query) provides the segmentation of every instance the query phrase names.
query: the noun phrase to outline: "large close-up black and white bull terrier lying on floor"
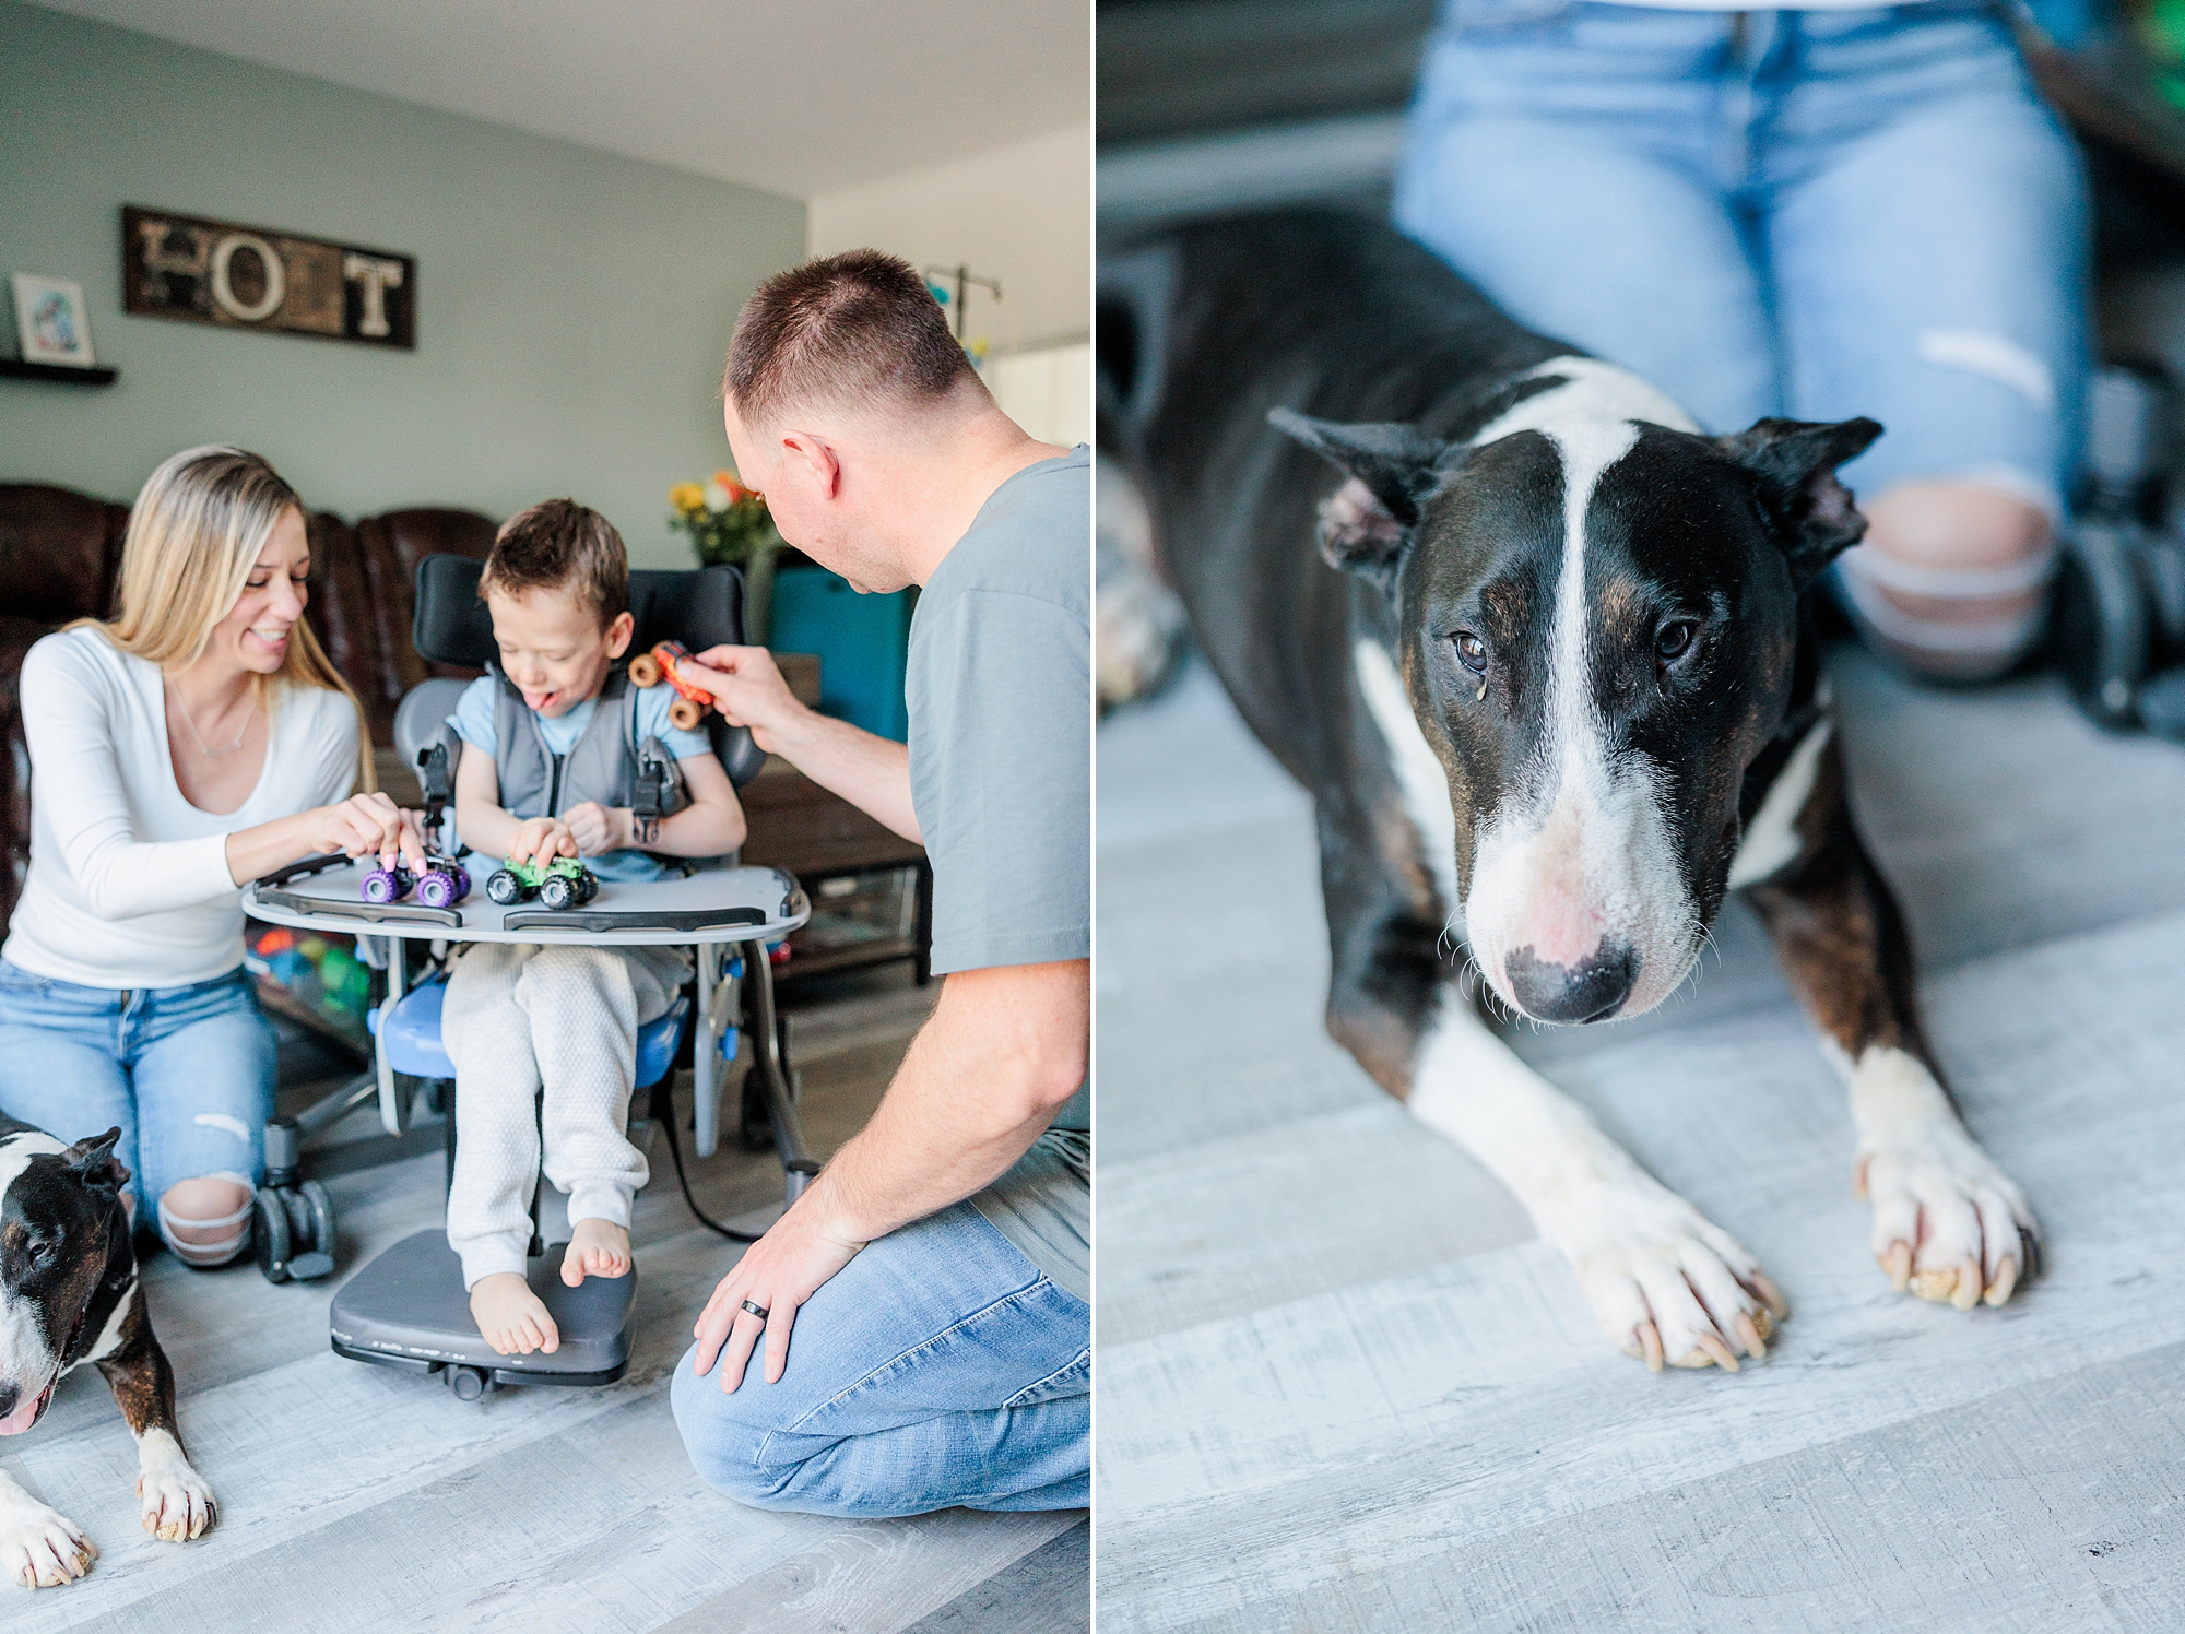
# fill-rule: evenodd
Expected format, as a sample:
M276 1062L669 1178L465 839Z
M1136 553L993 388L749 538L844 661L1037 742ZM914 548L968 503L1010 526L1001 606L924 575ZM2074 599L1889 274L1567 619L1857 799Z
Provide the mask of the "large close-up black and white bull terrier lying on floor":
M1835 467L1881 428L1702 435L1335 212L1108 258L1099 352L1103 452L1215 673L1313 795L1328 1031L1523 1199L1608 1337L1735 1370L1787 1311L1492 1014L1658 1005L1731 889L1849 1079L1890 1282L2008 1300L2034 1219L1921 1033L1805 609L1866 529Z

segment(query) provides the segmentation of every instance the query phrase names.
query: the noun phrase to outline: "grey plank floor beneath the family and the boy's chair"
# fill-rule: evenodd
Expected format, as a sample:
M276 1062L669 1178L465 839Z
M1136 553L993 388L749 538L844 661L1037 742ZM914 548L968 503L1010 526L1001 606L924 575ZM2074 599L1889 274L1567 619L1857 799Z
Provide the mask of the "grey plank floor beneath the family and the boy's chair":
M872 1114L937 990L896 987L795 1016L811 1145L828 1153ZM291 1092L293 1099L293 1092ZM334 1153L376 1132L371 1114ZM697 1228L653 1142L638 1197L636 1343L607 1389L507 1389L459 1402L334 1357L334 1282L269 1287L253 1267L192 1274L157 1256L153 1322L181 1381L181 1426L221 1501L192 1544L138 1529L135 1448L92 1370L63 1381L4 1468L83 1525L92 1575L26 1592L0 1584L0 1625L42 1630L822 1630L1009 1634L1086 1625L1084 1512L948 1509L828 1520L745 1509L690 1470L669 1370L736 1247ZM339 1156L326 1169L339 1169ZM439 1151L328 1180L341 1274L441 1219ZM741 1149L695 1164L708 1212L745 1228L780 1208L780 1169ZM555 1221L548 1204L548 1221ZM1053 1544L1064 1542L1055 1555ZM988 1603L988 1586L1020 1592ZM935 1617L955 1621L929 1623Z

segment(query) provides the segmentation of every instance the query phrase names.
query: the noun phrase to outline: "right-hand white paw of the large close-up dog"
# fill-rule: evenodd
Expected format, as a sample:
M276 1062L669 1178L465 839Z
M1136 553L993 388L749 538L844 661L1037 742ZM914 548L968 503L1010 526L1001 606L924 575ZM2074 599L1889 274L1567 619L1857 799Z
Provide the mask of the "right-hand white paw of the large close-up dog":
M2041 1228L1956 1118L1859 1153L1853 1191L1875 1208L1875 1258L1899 1293L1971 1311L2041 1269Z

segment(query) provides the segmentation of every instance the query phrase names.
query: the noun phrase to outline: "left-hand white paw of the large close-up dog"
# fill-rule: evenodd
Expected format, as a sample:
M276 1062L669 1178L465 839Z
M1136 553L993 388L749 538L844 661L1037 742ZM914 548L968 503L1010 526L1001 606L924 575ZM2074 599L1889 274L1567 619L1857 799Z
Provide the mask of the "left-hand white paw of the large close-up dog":
M1643 1177L1641 1177L1643 1180ZM1790 1306L1726 1230L1650 1180L1608 1186L1549 1230L1602 1333L1645 1365L1728 1367L1768 1354Z

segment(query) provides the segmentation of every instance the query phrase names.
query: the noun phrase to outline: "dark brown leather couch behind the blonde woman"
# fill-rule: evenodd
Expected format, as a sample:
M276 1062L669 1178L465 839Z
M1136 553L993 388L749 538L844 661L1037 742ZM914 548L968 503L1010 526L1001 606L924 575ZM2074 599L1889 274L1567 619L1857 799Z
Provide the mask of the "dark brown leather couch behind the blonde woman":
M31 754L17 684L24 653L72 618L114 609L127 505L66 487L0 483L0 935L31 863ZM395 703L426 675L465 675L426 664L411 647L411 585L435 550L485 559L496 522L476 511L417 509L367 516L350 526L315 511L306 618L365 706L371 741L393 743ZM393 773L380 756L382 780Z

